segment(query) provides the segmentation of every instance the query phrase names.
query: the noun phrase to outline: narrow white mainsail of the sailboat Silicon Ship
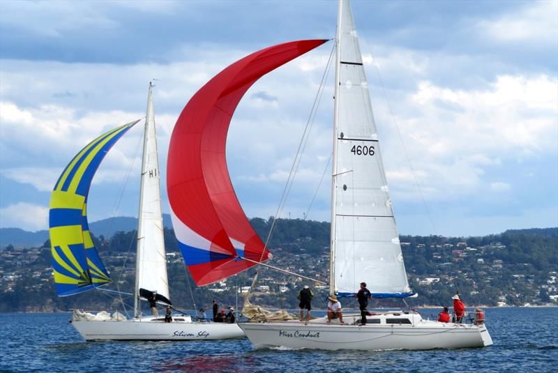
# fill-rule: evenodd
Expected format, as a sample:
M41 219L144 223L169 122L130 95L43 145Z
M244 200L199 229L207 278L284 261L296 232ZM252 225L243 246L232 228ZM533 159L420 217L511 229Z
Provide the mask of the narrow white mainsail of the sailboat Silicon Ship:
M155 291L169 299L167 259L163 240L159 162L152 87L149 87L145 118L144 153L140 189L140 215L137 227L136 291Z

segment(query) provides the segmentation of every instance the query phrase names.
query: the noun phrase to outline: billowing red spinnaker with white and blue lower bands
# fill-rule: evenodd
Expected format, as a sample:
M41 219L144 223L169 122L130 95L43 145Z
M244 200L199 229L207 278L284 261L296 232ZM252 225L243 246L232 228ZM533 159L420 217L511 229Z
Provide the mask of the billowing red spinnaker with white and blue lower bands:
M232 188L225 144L244 93L271 70L327 40L301 40L260 50L213 77L184 107L172 132L167 194L174 233L198 286L265 261L269 251L250 226Z

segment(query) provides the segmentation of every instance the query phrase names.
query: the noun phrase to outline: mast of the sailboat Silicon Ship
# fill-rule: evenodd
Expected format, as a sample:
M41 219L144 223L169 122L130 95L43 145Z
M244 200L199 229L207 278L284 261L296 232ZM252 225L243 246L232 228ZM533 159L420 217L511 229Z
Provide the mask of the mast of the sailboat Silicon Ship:
M149 82L149 93L147 94L147 109L145 114L145 127L144 127L144 149L142 152L142 176L140 181L140 208L137 214L137 246L136 246L136 257L135 257L135 290L134 290L134 317L139 317L140 311L140 263L141 263L141 245L144 239L144 233L142 229L142 208L144 201L144 184L145 184L145 163L147 155L147 137L149 124L153 119L153 83Z

